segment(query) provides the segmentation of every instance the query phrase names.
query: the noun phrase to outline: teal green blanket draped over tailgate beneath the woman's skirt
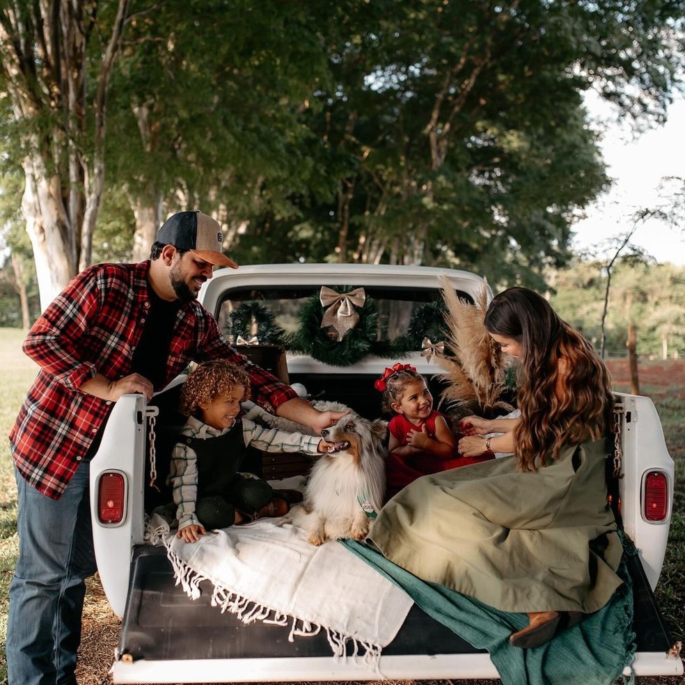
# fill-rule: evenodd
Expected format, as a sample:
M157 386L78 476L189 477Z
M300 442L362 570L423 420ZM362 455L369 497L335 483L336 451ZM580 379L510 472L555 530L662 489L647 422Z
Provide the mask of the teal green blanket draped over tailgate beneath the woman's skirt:
M542 647L519 649L510 646L509 636L528 624L526 614L499 611L443 585L425 583L370 546L341 542L399 585L425 613L473 647L487 649L504 685L611 685L633 659L633 588L625 555L634 551L624 552L618 569L624 584L604 608Z

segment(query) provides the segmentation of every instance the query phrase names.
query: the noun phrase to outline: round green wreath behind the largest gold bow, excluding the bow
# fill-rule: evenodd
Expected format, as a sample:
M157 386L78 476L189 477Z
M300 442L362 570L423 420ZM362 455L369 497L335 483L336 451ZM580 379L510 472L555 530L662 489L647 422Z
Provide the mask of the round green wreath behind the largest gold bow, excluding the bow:
M354 287L336 288L340 294L351 292ZM338 341L329 329L322 329L324 316L319 293L313 295L300 308L299 329L285 336L285 349L308 354L313 359L331 366L351 366L368 354L388 352L387 344L378 343L378 312L374 301L366 297L363 306L357 307L359 323Z

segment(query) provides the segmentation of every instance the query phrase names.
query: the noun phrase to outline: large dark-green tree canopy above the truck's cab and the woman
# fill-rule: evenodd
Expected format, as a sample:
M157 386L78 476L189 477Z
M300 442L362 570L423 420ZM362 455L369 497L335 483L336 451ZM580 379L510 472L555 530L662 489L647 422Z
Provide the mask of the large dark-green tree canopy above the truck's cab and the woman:
M663 116L683 3L372 3L330 45L308 123L336 162L340 260L452 263L510 281L562 263L606 183L581 94ZM346 32L346 33L345 33Z

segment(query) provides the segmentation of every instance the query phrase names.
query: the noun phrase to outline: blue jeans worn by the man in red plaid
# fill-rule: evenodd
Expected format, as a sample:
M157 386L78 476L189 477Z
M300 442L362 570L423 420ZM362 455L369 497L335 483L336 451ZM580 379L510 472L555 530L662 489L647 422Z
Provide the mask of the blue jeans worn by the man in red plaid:
M53 500L26 483L19 491L19 560L10 584L9 685L75 685L84 579L95 573L88 462Z

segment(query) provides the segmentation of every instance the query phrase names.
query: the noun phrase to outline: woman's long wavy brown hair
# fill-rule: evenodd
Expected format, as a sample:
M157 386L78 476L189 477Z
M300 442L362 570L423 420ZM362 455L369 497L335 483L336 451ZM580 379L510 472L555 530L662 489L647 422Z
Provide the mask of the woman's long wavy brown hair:
M514 455L521 471L545 466L562 446L597 440L611 425L613 393L595 348L528 288L508 288L485 314L489 333L521 345Z

